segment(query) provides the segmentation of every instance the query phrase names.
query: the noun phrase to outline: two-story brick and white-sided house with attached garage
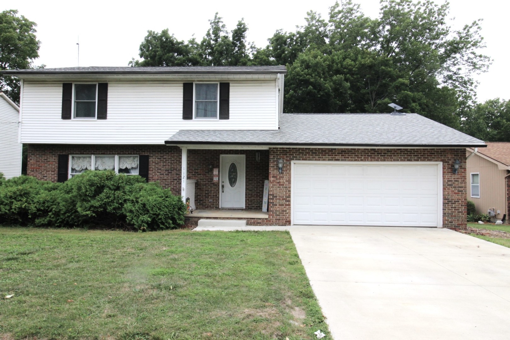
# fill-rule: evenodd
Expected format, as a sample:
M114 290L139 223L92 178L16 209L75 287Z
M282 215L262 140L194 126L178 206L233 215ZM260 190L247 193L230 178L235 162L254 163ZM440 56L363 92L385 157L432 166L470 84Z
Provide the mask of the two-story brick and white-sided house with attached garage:
M21 79L21 142L40 179L139 174L190 197L188 224L466 226L465 153L482 141L417 114L284 114L286 72L4 71Z

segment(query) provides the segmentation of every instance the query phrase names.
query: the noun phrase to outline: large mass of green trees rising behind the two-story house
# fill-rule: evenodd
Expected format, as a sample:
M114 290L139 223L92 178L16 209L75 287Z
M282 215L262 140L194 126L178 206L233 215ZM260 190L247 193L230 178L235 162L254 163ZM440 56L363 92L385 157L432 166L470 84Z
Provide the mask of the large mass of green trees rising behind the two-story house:
M277 30L257 48L243 20L229 32L216 13L199 44L148 31L143 60L130 65L286 65L285 112L382 113L396 102L460 129L475 107L473 75L487 71L490 58L478 52L480 22L453 30L448 15L448 3L382 0L372 19L346 0L330 7L327 20L310 11L295 32Z

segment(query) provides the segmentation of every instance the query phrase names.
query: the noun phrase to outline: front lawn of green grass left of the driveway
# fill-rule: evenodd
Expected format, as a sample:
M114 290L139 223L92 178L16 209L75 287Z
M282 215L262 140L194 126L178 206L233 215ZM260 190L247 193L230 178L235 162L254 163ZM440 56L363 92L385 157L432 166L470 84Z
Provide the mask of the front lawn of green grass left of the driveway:
M0 245L0 339L330 338L288 232L0 227Z

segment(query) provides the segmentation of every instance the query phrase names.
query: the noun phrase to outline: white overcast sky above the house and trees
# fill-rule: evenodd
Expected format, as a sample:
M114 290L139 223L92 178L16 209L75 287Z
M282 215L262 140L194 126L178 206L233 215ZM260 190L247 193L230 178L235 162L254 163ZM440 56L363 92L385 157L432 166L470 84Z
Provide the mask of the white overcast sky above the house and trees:
M354 0L365 15L376 17L378 0ZM215 12L223 17L228 30L244 18L248 41L264 47L277 29L294 31L304 24L307 11L314 10L327 18L334 0L314 1L158 1L86 2L4 0L0 10L17 9L19 14L37 23L41 41L36 64L46 67L127 66L132 57L139 59L138 47L147 30L160 32L168 28L179 40L193 35L198 41L209 28L208 19ZM437 3L442 4L439 1ZM3 7L3 8L2 8ZM508 60L508 2L497 0L450 0L450 18L454 28L482 18L482 36L487 48L482 52L494 59L489 72L476 76L478 100L500 97L510 99L506 87L510 77Z

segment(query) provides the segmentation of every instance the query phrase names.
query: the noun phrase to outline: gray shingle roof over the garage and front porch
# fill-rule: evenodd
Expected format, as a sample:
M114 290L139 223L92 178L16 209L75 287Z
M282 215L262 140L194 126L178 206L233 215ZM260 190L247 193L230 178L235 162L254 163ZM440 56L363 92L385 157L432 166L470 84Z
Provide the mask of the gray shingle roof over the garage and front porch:
M179 130L166 144L485 146L415 113L281 114L278 130Z

